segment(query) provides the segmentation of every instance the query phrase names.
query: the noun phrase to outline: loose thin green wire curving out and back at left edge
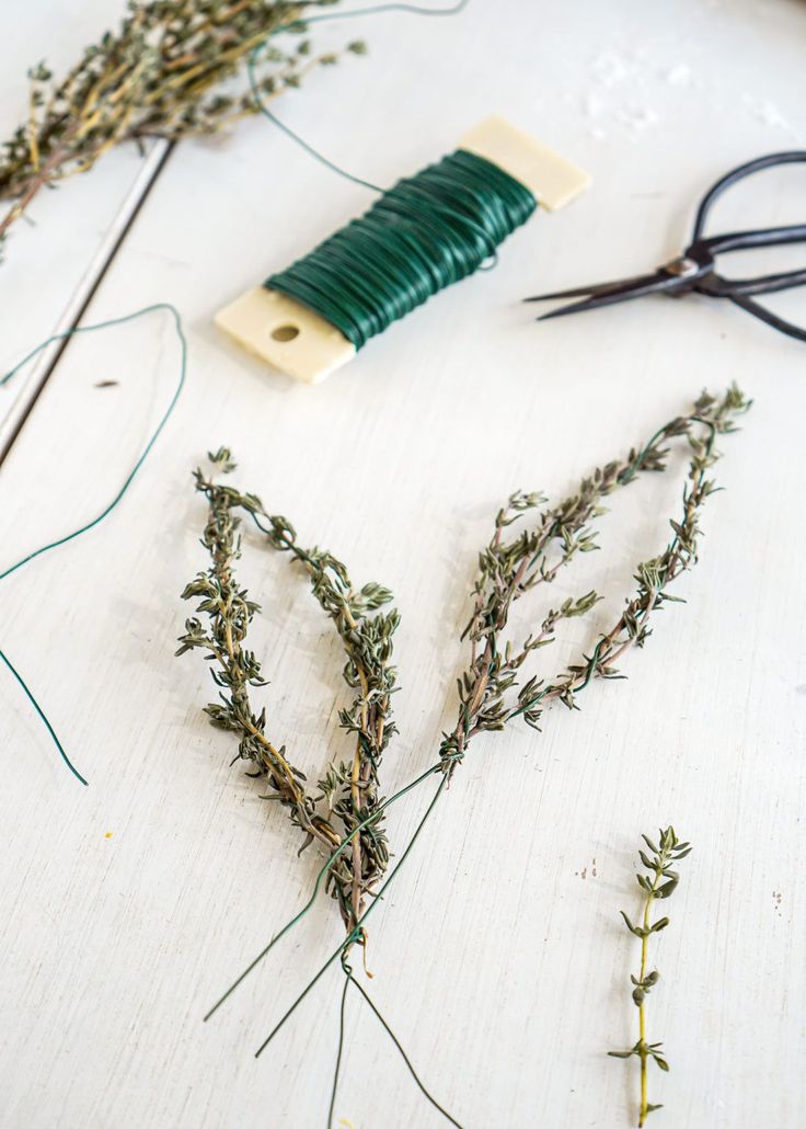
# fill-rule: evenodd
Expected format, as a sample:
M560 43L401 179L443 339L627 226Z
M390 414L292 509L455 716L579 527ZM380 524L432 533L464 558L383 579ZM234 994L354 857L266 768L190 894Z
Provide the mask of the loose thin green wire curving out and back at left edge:
M26 357L24 357L23 360L20 360L17 365L15 365L15 367L10 371L6 373L5 376L0 377L0 388L1 388L3 387L3 385L8 384L9 380L11 380L17 375L17 373L19 373L21 368L24 368L30 360L33 360L34 357L41 353L43 349L47 349L48 345L54 344L56 341L64 341L67 338L74 336L78 333L94 333L96 330L109 329L113 325L124 325L126 322L133 322L139 317L145 317L148 314L154 314L154 313L169 313L174 318L174 326L176 329L176 334L179 340L180 365L179 365L179 379L177 382L176 388L159 423L151 434L151 438L143 447L140 457L138 458L134 466L130 471L121 489L117 491L112 501L107 506L105 506L104 509L96 517L87 522L85 525L81 525L78 530L73 530L72 533L68 533L63 537L57 537L55 541L50 541L47 544L42 545L39 549L34 550L34 552L30 552L26 557L23 557L21 560L18 560L15 564L9 566L9 568L0 572L0 580L3 580L12 572L16 572L17 569L21 568L24 564L27 564L28 561L32 561L37 557L42 557L44 553L50 552L52 549L57 549L60 545L64 545L68 542L74 541L77 537L80 537L82 534L88 533L90 530L95 528L96 525L99 525L104 520L104 518L106 518L112 513L112 510L115 509L118 502L123 499L124 495L126 493L132 482L136 478L138 473L140 472L143 463L150 455L152 447L154 446L160 435L162 434L162 430L165 429L168 420L174 414L177 401L181 394L181 390L185 386L185 380L187 377L187 340L185 338L181 316L176 306L172 306L170 303L167 301L160 301L160 303L154 303L151 306L144 306L142 309L136 309L132 314L124 314L122 317L110 317L105 322L97 322L95 325L76 325L73 326L73 329L67 330L64 333L55 333L53 334L53 336L47 338L46 341L43 341L35 349L32 349L32 351ZM82 785L87 785L87 780L81 776L81 773L78 771L76 765L71 762L70 758L65 753L61 741L56 736L53 726L51 725L50 720L45 715L45 711L43 710L39 702L36 700L36 697L34 695L33 691L23 679L19 671L17 671L14 667L10 659L2 650L0 650L0 658L6 664L8 669L11 672L14 677L17 680L20 688L23 689L23 692L25 693L30 704L36 710L36 714L38 715L43 725L45 726L51 737L53 738L53 742L56 749L59 750L59 753L64 763L67 764L67 767L70 769L70 771L72 772L72 774L76 777L77 780L79 780Z

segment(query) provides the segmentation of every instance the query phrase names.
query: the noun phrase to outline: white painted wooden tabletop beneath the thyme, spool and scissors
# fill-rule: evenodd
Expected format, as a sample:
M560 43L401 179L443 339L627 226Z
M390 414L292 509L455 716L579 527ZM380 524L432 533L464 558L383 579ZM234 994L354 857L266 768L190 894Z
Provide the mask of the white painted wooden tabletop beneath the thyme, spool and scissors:
M24 111L25 65L43 54L65 63L112 7L30 0L9 14L5 130ZM721 444L727 491L710 501L701 562L679 586L688 603L627 659L629 681L596 685L579 714L550 711L542 735L524 727L475 742L374 916L369 962L374 998L462 1124L634 1123L636 1070L605 1056L636 1038L628 978L638 946L618 911L637 908L639 833L673 822L696 850L654 946L663 979L649 1033L672 1064L652 1079L665 1105L654 1120L794 1129L806 1108L806 352L705 299L542 326L519 299L675 254L711 181L806 141L806 6L475 0L452 20L387 15L334 21L316 37L338 45L356 34L366 60L320 72L278 104L347 168L390 183L495 110L590 168L595 186L535 217L495 271L441 295L311 390L239 353L211 316L366 207L366 194L265 121L171 155L85 322L175 303L191 343L177 414L105 525L0 594L1 646L90 781L83 789L68 774L3 675L0 1123L326 1121L336 971L271 1052L253 1052L337 944L331 904L318 904L215 1022L201 1022L300 908L319 865L312 852L296 858L285 815L229 769L233 744L201 712L204 664L172 658L188 613L178 594L205 563L191 481L204 453L231 445L237 481L289 514L303 542L395 590L402 691L384 764L391 793L433 761L454 712L467 593L501 501L519 487L566 491L703 385L735 379L756 403ZM70 320L143 175L135 155L114 156L14 240L0 268L3 369ZM801 177L768 175L726 201L719 224L801 221ZM778 308L803 317L803 297ZM20 430L35 376L3 396L3 435L18 434L0 472L0 567L114 493L176 368L169 322L154 316L74 340ZM97 388L100 379L118 383ZM674 465L681 472L682 457ZM593 622L541 653L546 673L612 619L636 561L663 545L680 485L679 473L665 475L614 502L604 551L551 593L556 602L595 586L605 599ZM338 647L302 578L251 539L243 577L264 605L255 645L272 681L271 729L316 776L348 749L336 728ZM526 627L544 606L523 604ZM426 798L390 812L392 844ZM444 1123L357 996L336 1123Z

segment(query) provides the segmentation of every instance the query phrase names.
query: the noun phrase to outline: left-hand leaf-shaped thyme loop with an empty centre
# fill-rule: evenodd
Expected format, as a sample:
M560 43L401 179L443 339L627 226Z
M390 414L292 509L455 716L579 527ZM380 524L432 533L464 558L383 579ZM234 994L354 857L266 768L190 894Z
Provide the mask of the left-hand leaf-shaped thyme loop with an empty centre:
M213 466L229 473L234 463L227 448L210 456ZM345 566L320 549L302 549L284 517L269 516L259 498L216 483L198 470L196 489L210 507L203 544L211 567L183 593L185 599L201 599L197 613L207 619L188 619L180 638L178 655L201 649L213 660L213 681L221 688L221 701L206 707L211 723L239 736L239 755L266 777L277 798L289 809L292 822L304 833L302 849L317 840L333 856L362 822L377 819L355 834L351 854L339 854L328 874L329 889L338 900L348 934L358 925L366 896L383 876L389 863L383 831L378 773L381 758L396 732L391 717L391 695L396 671L391 665L392 636L400 618L391 607L392 595L378 584L356 589ZM260 663L245 647L249 624L259 611L247 592L238 585L234 563L240 557L240 518L237 510L251 516L266 533L271 544L289 552L308 572L313 596L331 619L346 655L344 679L355 691L352 706L339 714L342 727L355 738L351 762L330 764L311 794L304 774L295 768L284 745L266 735L265 708L256 714L250 688L265 685Z

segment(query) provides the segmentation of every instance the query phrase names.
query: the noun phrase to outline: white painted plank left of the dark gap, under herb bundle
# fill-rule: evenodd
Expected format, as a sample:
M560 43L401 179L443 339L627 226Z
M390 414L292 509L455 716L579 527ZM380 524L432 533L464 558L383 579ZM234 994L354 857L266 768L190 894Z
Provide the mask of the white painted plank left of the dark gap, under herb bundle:
M54 0L15 6L0 42L2 140L26 120L27 68L45 59L55 76L62 75L118 18L119 9L103 0L69 7ZM153 164L158 155L151 152L150 159ZM0 371L72 324L151 172L149 160L133 147L115 150L91 176L41 193L27 212L30 222L24 219L11 228L0 263ZM7 207L0 202L0 213ZM54 350L43 352L23 378L1 390L0 450L36 397L53 357Z

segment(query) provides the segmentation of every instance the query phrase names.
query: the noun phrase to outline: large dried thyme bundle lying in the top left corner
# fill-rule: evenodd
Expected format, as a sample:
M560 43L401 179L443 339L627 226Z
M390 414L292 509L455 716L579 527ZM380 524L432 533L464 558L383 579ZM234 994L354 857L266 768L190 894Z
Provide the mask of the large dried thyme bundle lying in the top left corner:
M222 84L271 35L300 33L292 50L272 45L260 53L256 87L264 99L337 62L333 53L312 55L301 37L305 14L336 2L131 0L118 30L87 47L63 79L45 63L32 68L28 120L0 157L0 200L12 201L0 219L0 245L42 189L87 172L115 146L213 133L257 113L250 89L233 93ZM365 47L355 42L347 50Z

